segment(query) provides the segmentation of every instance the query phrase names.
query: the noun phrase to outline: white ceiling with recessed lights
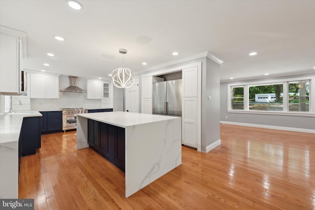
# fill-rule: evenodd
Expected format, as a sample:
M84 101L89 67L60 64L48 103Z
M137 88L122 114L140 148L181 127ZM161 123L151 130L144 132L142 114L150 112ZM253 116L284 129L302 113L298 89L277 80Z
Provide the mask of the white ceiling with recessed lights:
M315 72L315 0L78 2L0 0L0 25L27 32L25 69L109 79L125 48L135 73L205 51L224 61L221 81Z

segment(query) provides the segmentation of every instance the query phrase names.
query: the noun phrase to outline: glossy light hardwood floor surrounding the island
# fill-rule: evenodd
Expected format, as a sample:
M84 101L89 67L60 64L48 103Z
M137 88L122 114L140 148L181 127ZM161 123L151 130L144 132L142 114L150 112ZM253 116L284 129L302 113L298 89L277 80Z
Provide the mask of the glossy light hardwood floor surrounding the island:
M139 146L141 147L141 146ZM22 158L19 198L38 210L314 210L315 134L221 124L221 146L182 147L182 165L125 197L125 174L76 132L42 135Z

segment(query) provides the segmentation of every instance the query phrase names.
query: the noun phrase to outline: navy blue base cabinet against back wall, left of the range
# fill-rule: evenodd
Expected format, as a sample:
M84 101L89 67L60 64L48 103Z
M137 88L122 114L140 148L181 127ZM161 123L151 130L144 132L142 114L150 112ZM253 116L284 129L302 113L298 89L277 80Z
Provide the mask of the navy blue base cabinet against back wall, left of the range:
M49 111L40 112L43 116L40 118L41 132L60 132L63 130L63 112Z

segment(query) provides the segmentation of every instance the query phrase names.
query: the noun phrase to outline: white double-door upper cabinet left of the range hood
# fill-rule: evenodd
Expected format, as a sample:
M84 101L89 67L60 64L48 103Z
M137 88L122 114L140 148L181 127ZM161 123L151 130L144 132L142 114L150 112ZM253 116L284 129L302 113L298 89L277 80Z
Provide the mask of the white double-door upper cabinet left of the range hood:
M31 73L31 98L59 98L59 76Z

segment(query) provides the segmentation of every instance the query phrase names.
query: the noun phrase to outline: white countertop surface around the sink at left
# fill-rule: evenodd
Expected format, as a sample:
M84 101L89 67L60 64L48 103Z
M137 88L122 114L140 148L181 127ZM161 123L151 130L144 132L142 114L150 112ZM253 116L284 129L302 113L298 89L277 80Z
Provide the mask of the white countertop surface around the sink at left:
M0 144L19 140L23 118L41 117L37 111L17 111L0 117Z

